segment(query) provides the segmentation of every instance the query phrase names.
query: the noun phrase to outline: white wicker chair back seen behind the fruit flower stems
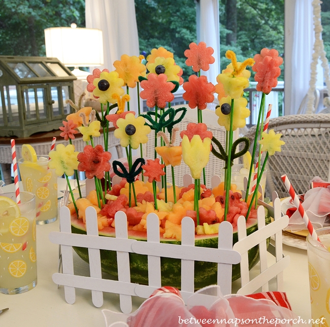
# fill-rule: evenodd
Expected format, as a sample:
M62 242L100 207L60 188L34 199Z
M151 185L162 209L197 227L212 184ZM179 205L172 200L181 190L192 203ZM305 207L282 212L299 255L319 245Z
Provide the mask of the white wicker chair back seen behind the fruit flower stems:
M192 110L187 105L178 105L173 106L173 108L182 108L186 107L188 108L187 114L185 115L184 119L176 124L176 126L179 127L179 130L184 130L187 128L187 124L190 122L197 122L197 113L196 109ZM217 138L222 146L225 145L225 139L226 139L226 130L224 127L219 126L217 123L218 116L215 114L214 111L205 109L203 110L203 122L208 126L208 130L210 130L213 133L213 136ZM238 130L234 134L234 140L237 138ZM146 144L144 148L144 157L145 158L154 158L154 131L152 130L149 134L149 142ZM178 135L176 138L175 145L179 145L181 142L181 138ZM159 146L159 139L158 139L158 146ZM159 157L159 156L158 156ZM159 157L160 158L160 157ZM210 153L210 160L206 166L206 185L207 187L211 187L211 178L214 175L221 176L221 168L224 167L224 161L218 159L215 157L212 153ZM175 173L175 180L177 185L182 184L182 178L185 174L190 174L190 169L187 165L184 164L183 161L181 161L180 166L174 167L174 173ZM171 173L171 167L167 167L167 181L168 183L172 184L172 173ZM203 183L203 177L201 178L201 181Z

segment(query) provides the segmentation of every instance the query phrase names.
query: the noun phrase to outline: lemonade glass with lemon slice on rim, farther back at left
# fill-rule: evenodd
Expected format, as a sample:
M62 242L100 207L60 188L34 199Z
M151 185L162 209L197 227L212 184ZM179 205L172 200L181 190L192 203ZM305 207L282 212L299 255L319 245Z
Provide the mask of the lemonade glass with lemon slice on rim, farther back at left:
M57 219L57 175L48 168L47 155L38 155L37 161L18 160L24 191L36 195L37 224L43 225Z

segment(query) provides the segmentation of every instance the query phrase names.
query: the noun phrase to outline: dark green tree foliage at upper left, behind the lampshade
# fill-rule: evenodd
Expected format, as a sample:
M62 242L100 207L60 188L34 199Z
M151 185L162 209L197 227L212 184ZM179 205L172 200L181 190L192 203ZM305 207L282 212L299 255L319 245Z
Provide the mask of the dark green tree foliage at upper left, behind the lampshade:
M85 27L84 0L1 0L0 54L44 56L44 29Z

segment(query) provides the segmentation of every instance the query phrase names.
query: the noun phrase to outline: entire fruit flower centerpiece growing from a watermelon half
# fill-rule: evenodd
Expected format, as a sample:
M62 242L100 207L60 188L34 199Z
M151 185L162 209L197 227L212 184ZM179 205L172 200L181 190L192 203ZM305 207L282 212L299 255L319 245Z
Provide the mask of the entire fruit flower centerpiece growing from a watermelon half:
M85 198L82 197L78 181L79 197L75 199L70 183L72 202L68 205L72 215L74 233L86 233L86 208L92 206L97 213L99 234L114 237L115 214L123 211L127 216L128 236L138 240L146 240L148 214L155 213L159 218L159 233L162 242L180 243L181 220L188 216L195 223L195 245L217 247L218 227L222 221L233 225L233 242L237 242L236 225L238 217L246 218L247 233L257 229L256 200L259 197L258 184L265 169L269 155L281 150L280 134L269 133L263 128L259 133L265 115L265 94L277 84L280 75L279 66L282 59L276 50L263 49L254 59L237 62L233 51L227 51L226 57L231 60L227 68L217 77L217 85L207 81L201 70L208 70L214 62L213 49L201 42L191 43L185 51L186 63L192 66L196 75L191 75L183 83L182 69L175 63L173 53L160 47L152 49L146 58L146 66L142 63L143 56L122 55L114 62L115 71L102 72L95 69L89 75L87 90L101 103L101 114L90 107L81 108L81 99L76 106L71 102L75 113L63 121L61 136L70 144L59 144L49 153L49 167L56 169L58 176L73 175L75 171L85 172L88 179L94 179L95 189ZM256 62L254 64L254 62ZM254 64L254 66L253 66ZM249 148L249 140L239 138L233 140L233 131L245 126L245 119L250 112L246 108L247 100L243 97L244 88L248 87L252 66L256 71L257 89L263 91L258 116L258 128L253 147L255 155L257 139L262 148L259 150L259 168L255 187L249 194L236 189L231 183L231 167L233 160L244 155ZM146 70L148 74L146 74ZM171 102L173 93L183 84L183 98L188 102L189 109L174 109ZM126 86L126 92L124 91ZM137 87L138 96L147 101L152 111L141 113L130 108L129 88ZM140 87L143 89L140 92ZM214 93L218 94L219 106L215 110L218 123L227 130L226 144L222 145L203 123L203 110L207 103L214 101ZM140 104L140 99L138 99ZM125 107L127 111L125 111ZM196 109L195 109L196 108ZM134 108L136 109L136 108ZM182 121L187 110L196 111L196 123L189 123L185 130L178 130L176 124ZM112 169L121 181L114 184L110 174L111 153L108 152L108 129L112 122L114 136L126 150L126 162L112 161ZM79 132L86 141L83 152L76 152L74 147L75 134ZM100 137L103 129L105 148L94 146L93 138ZM154 139L148 135L154 130ZM180 132L180 133L179 133ZM181 138L180 144L176 140ZM143 157L143 145L154 143L154 157ZM239 150L239 146L241 150ZM140 157L133 160L133 151L140 152ZM261 153L266 156L261 165ZM218 186L211 189L206 185L205 167L209 156L215 155L224 160L225 178ZM182 162L183 161L183 162ZM194 183L187 187L182 181L175 179L174 167L185 164L190 168ZM251 168L250 168L251 167ZM251 181L253 160L250 162L248 187ZM172 172L172 183L168 184L167 171ZM219 172L220 174L220 172ZM202 181L201 181L202 180ZM159 187L157 185L159 184ZM267 218L269 219L268 215ZM269 222L269 221L267 221ZM88 260L85 248L75 248L77 253ZM102 268L104 271L117 275L116 252L101 251ZM249 265L252 267L258 260L258 247L249 251ZM180 286L180 260L162 258L162 284ZM147 258L143 255L130 254L131 281L148 283ZM217 266L203 261L195 262L195 288L216 282ZM239 278L239 266L233 267L233 280Z

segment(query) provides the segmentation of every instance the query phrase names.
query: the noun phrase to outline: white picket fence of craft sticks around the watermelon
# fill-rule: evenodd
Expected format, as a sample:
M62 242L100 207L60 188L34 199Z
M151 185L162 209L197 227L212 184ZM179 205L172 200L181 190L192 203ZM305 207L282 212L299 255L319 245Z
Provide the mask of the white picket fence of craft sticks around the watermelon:
M277 194L274 194L276 197ZM75 288L91 290L92 302L96 307L103 305L103 292L119 294L120 309L124 313L132 310L132 296L148 298L161 285L160 257L181 259L181 295L186 302L194 292L194 261L217 263L217 282L223 295L232 292L232 265L240 263L241 288L237 293L247 295L261 287L268 291L269 281L277 277L277 290L283 290L282 271L289 265L289 257L282 253L282 229L288 217L281 217L278 197L274 201L274 221L265 226L265 209L257 211L258 231L247 236L245 218L238 220L239 241L233 247L233 227L227 221L219 225L218 248L194 246L194 222L190 217L182 220L182 244L160 243L159 219L156 214L147 217L147 242L128 239L126 215L115 215L116 237L98 236L97 217L94 208L86 209L87 235L71 233L71 217L67 207L60 209L60 231L51 232L51 242L61 245L62 273L53 274L56 284L64 285L65 301L75 302ZM273 210L272 210L273 211ZM276 263L268 267L267 239L275 235ZM248 250L259 246L260 274L250 280ZM90 277L74 274L73 246L88 248ZM117 251L118 280L102 278L100 249ZM130 282L129 253L148 255L149 285ZM202 295L201 295L202 296Z

